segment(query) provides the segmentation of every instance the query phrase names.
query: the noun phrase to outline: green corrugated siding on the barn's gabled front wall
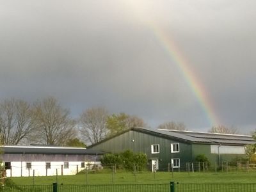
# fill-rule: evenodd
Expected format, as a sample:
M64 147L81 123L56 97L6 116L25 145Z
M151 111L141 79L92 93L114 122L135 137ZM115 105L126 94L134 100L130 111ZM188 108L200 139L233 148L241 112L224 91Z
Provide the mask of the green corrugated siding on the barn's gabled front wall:
M180 152L171 153L171 143L180 143ZM159 144L160 153L152 154L151 145ZM145 134L143 132L129 131L99 143L92 147L93 150L102 150L104 152L123 152L132 150L134 152L143 152L147 154L148 159L159 159L159 170L167 170L168 163L172 158L179 158L180 163L191 162L191 144L181 143L177 140L168 140L158 136Z

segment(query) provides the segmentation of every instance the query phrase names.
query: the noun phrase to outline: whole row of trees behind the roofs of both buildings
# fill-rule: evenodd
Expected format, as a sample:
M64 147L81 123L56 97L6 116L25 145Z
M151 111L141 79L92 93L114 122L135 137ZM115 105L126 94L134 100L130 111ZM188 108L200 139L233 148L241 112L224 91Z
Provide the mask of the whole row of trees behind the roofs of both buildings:
M97 143L130 127L148 125L138 116L110 114L106 108L86 109L75 119L70 109L61 106L54 97L36 100L33 104L21 99L0 102L0 141L3 145L34 143L84 147L84 143ZM166 122L157 129L188 130L182 122ZM231 134L236 131L225 126L209 130Z

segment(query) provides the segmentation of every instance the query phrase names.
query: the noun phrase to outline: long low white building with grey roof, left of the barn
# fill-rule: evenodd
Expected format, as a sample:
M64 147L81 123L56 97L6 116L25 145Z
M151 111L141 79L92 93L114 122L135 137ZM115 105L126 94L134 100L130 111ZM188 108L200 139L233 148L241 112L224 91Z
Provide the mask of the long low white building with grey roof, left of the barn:
M75 175L100 164L102 152L86 148L18 146L1 147L7 177Z

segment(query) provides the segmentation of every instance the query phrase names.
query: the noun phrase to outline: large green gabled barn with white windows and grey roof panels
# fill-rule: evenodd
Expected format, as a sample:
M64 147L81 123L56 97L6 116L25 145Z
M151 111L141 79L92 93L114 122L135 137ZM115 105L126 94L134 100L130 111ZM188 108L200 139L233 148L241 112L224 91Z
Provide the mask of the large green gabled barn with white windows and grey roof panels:
M187 163L195 163L199 154L208 157L211 164L245 157L244 145L253 143L252 136L132 127L88 148L112 153L128 149L143 152L151 170L167 170L168 163L184 170Z

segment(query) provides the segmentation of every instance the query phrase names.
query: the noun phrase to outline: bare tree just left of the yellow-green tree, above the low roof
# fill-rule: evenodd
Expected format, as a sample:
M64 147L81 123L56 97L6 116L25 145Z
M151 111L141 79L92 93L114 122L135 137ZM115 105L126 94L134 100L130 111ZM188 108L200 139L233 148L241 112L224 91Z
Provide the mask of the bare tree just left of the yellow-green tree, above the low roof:
M106 138L108 111L105 108L90 108L79 118L79 132L87 143L93 144Z

